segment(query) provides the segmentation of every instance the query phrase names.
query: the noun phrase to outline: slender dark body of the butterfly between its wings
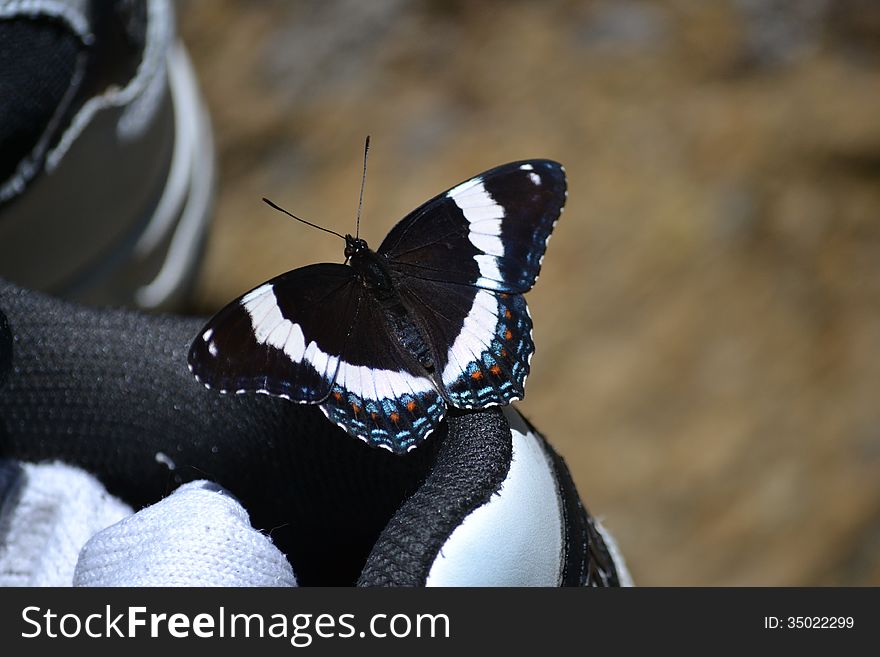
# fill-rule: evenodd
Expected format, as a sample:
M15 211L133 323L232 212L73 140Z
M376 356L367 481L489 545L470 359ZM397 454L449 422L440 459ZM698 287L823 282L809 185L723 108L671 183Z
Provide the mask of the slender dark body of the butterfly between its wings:
M431 350L422 330L401 301L385 256L370 249L364 240L346 235L345 257L357 272L358 280L370 291L371 298L382 309L391 334L422 367L433 370Z

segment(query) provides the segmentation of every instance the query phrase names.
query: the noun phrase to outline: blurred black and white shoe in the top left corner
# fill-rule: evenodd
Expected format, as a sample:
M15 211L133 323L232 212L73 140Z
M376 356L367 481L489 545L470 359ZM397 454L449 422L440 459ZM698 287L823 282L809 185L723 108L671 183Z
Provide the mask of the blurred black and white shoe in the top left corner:
M168 0L0 2L0 276L180 307L215 176Z

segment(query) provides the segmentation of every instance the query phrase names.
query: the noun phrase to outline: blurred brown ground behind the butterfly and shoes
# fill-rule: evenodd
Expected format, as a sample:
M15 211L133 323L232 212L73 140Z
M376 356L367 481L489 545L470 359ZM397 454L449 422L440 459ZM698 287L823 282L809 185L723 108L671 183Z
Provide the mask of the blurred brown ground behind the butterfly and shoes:
M643 585L880 584L880 5L179 5L216 310L491 166L569 202L520 409Z

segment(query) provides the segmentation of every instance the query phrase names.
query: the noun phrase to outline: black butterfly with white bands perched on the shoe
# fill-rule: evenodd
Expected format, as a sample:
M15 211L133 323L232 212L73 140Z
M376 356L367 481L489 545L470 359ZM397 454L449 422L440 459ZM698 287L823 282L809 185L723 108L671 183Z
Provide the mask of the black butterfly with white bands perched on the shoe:
M450 407L522 399L535 349L522 295L566 195L559 163L512 162L423 204L376 251L345 235L346 264L294 269L218 312L190 370L222 393L318 404L398 454Z

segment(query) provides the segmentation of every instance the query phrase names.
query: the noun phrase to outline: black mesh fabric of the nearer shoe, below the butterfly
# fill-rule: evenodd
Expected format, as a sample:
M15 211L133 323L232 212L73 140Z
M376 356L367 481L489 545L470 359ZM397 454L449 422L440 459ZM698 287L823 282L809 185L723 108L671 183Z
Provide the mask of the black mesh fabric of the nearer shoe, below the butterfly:
M78 465L135 508L182 482L216 481L304 585L356 582L445 437L444 425L395 456L352 439L315 406L206 390L186 365L201 319L94 310L5 282L0 308L14 336L0 458Z

